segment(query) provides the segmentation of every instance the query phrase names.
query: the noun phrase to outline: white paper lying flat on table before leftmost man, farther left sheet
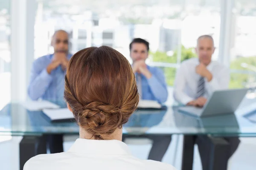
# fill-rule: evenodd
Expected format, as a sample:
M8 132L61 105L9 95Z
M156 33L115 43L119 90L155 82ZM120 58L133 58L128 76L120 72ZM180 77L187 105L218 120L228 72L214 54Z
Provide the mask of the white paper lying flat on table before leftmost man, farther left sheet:
M42 100L42 101L27 101L21 103L24 108L29 111L41 111L43 109L56 109L60 106L55 105L54 103Z

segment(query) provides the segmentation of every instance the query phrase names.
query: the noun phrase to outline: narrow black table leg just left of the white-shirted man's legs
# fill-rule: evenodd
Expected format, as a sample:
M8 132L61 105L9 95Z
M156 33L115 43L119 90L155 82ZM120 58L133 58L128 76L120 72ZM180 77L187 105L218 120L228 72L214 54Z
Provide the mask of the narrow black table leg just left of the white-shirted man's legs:
M184 135L181 170L192 170L193 168L195 137L194 135Z

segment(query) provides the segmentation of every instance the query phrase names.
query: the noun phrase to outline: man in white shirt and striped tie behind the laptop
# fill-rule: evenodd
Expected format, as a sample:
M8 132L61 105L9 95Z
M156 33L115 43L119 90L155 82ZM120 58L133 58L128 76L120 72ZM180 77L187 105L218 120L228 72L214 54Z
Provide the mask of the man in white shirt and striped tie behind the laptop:
M213 91L228 88L230 76L228 68L219 62L212 61L215 48L211 36L199 37L195 51L198 58L182 62L177 71L174 97L183 105L203 107ZM230 146L228 153L230 157L236 151L240 140L237 137L226 137L224 140ZM208 170L210 142L207 136L198 136L195 142L198 144L203 170ZM227 161L228 159L223 161L221 170L227 169Z

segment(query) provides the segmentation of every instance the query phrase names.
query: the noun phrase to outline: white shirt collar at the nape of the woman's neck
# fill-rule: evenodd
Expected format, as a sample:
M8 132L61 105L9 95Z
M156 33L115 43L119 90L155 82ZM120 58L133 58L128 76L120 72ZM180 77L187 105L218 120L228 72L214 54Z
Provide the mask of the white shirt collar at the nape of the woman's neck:
M68 152L97 155L131 155L128 146L119 140L76 139Z

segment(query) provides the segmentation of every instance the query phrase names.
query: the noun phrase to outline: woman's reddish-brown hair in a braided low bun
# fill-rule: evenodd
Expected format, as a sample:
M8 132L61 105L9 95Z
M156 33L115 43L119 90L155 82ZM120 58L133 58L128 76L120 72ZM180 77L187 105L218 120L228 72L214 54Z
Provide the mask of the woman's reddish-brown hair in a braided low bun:
M139 102L130 63L107 46L74 54L67 68L64 98L78 125L98 140L122 128Z

